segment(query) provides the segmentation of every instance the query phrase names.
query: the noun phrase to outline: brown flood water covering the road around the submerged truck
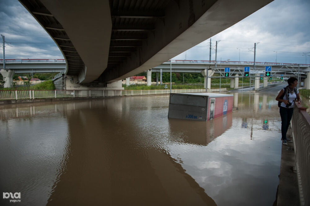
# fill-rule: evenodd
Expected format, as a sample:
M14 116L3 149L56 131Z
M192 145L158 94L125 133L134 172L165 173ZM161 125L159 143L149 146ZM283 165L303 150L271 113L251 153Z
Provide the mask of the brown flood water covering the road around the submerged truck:
M169 96L0 106L1 205L272 205L276 94L234 94L207 122L168 119Z

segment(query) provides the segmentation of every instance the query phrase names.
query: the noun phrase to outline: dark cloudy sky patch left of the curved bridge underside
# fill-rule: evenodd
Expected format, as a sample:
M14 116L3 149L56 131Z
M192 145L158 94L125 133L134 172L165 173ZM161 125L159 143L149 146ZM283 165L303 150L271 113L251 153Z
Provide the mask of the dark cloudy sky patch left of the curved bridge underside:
M63 58L51 37L17 0L0 2L6 59Z

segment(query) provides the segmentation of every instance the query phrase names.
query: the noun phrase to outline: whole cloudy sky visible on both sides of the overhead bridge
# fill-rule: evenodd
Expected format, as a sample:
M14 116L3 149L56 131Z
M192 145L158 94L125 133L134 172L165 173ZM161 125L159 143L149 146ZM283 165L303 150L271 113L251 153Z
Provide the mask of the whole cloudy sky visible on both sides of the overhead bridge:
M0 34L6 59L63 59L51 37L17 0L0 0ZM1 39L2 40L2 39ZM307 64L310 62L310 1L274 0L211 37L211 60ZM209 60L210 39L173 59ZM2 45L1 45L1 59ZM307 59L306 59L307 57Z

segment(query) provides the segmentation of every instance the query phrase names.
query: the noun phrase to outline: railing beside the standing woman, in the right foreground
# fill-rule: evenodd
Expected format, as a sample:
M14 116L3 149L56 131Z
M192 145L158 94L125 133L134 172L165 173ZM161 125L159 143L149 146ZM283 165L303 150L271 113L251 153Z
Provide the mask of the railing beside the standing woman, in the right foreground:
M310 116L300 105L294 107L292 133L299 183L300 205L310 205Z

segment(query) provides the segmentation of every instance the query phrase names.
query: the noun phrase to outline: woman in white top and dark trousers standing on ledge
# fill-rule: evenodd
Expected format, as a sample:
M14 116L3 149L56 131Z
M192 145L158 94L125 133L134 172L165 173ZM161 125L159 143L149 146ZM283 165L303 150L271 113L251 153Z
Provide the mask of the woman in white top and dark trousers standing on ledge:
M286 132L290 125L290 120L293 116L294 102L297 100L297 102L300 104L299 91L296 88L297 82L298 81L295 77L290 77L287 80L288 85L279 92L276 98L277 101L281 102L281 140L282 144L284 145L287 145L286 142L293 142L289 138L286 138Z

